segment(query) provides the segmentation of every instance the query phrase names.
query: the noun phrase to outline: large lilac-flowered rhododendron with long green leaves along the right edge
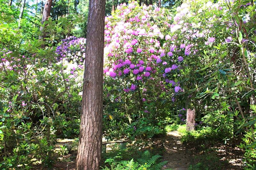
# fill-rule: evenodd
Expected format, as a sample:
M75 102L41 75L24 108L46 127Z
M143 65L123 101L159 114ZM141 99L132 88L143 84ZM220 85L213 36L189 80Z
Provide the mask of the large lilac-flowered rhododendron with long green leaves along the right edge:
M252 71L255 70L253 63L256 19L253 8L253 2L240 0L232 2L220 0L216 3L201 0L186 1L177 8L168 36L173 38L170 46L171 49L173 48L173 56L177 57L178 62L183 63L176 65L177 67L171 65L162 67L166 82L174 80L171 82L172 85L179 84L174 91L184 91L182 95L174 94L173 97L186 103L187 107L189 103L193 104L198 110L202 104L203 106L210 103L222 105L220 111L226 115L219 117L218 122L223 123L219 127L227 129L225 127L227 126L228 131L230 124L232 125L226 119L228 116L236 117L237 132L245 130L247 133L249 129L246 126L250 123L244 122L251 122L255 118L254 114L244 115L245 110L241 107L242 105L250 110L249 105L245 104L246 101L250 101L251 105L255 103L255 91L251 91L256 85L251 78L252 74L255 74L255 71ZM168 60L173 62L172 58L168 58L167 63ZM171 70L175 72L166 74ZM227 99L228 95L232 97ZM218 101L215 101L216 99ZM226 103L227 100L231 106ZM229 110L231 107L232 111ZM211 111L214 112L214 109L219 108L211 104ZM252 129L249 138L253 144L255 143L252 139L255 136L254 127L252 124L249 126ZM253 149L251 153L253 155ZM246 158L248 168L253 168L255 157L249 159L246 156Z

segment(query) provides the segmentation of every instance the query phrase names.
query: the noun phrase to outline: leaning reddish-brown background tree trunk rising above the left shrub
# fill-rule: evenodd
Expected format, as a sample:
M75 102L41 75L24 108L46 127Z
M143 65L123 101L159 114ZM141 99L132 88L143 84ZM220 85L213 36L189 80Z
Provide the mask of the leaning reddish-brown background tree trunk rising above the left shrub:
M52 7L52 0L46 0L45 4L44 4L44 11L43 11L42 21L41 21L42 25L44 24L44 22L50 16L51 7ZM44 38L46 37L46 34L44 32L44 27L43 26L40 26L40 31L41 31L41 35L39 35L39 39L44 41L45 40Z

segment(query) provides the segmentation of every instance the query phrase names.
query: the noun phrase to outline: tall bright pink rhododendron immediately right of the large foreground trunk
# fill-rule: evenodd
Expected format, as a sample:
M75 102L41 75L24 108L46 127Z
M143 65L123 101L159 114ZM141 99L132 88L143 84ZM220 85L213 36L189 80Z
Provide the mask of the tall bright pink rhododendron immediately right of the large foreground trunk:
M161 58L172 57L171 49L162 47L167 45L165 39L171 39L171 14L167 9L130 2L118 6L105 23L104 73L116 87L109 97L116 97L115 102L120 103L118 111L125 113L127 123L132 123L126 133L142 137L162 133L162 121L172 104L163 99L171 86L166 86L158 71L159 63L167 64ZM181 61L175 59L171 67L176 69L175 64Z

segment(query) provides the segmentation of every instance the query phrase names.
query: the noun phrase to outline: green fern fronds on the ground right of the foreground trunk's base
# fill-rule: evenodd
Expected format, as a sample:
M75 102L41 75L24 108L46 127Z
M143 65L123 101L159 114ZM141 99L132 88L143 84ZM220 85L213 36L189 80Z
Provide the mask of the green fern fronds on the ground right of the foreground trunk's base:
M140 155L140 158L135 162L123 160L111 165L111 169L105 166L102 170L161 170L167 161L159 161L160 155L153 155L149 151L145 151Z

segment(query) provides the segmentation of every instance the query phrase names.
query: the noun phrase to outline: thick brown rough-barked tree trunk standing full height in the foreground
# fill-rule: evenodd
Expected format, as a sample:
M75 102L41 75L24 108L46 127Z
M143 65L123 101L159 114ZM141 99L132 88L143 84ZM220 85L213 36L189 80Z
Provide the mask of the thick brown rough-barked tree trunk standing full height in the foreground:
M90 0L76 170L98 170L102 150L105 0Z

